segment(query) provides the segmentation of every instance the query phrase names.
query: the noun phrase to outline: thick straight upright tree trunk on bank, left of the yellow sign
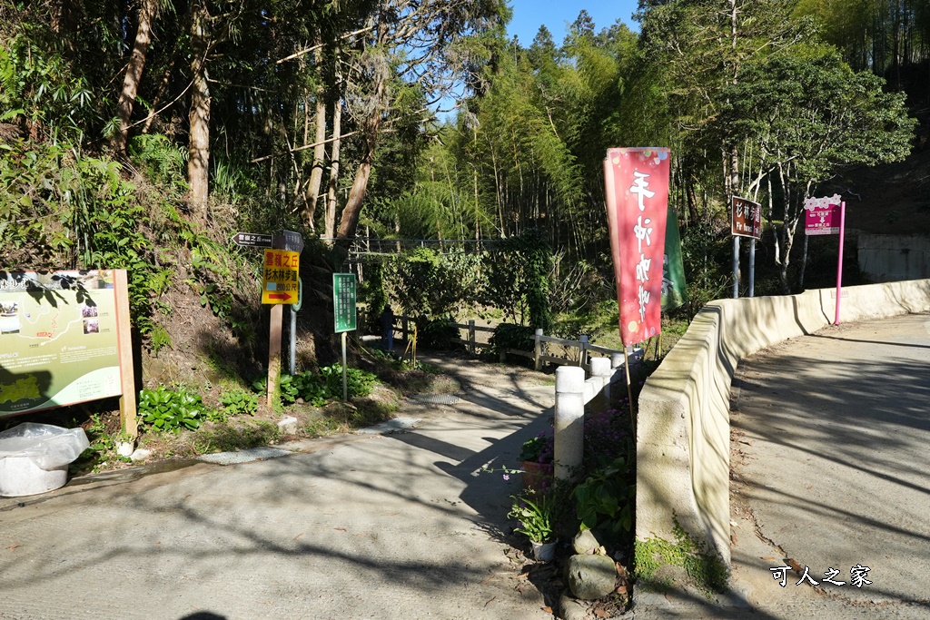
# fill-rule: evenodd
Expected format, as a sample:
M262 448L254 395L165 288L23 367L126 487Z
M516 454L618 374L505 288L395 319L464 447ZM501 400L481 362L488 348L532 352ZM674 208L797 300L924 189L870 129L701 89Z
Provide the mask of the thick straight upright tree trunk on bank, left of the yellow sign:
M210 170L210 86L207 82L207 23L205 0L193 5L191 20L191 134L188 142L187 182L190 204L202 216L206 215Z

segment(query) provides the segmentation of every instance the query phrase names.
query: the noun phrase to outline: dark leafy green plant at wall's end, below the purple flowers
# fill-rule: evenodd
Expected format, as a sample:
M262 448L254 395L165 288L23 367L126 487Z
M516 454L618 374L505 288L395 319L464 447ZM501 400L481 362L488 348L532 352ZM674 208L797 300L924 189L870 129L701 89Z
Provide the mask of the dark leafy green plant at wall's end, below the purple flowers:
M625 456L595 470L575 489L578 520L613 545L629 542L636 506L635 474Z

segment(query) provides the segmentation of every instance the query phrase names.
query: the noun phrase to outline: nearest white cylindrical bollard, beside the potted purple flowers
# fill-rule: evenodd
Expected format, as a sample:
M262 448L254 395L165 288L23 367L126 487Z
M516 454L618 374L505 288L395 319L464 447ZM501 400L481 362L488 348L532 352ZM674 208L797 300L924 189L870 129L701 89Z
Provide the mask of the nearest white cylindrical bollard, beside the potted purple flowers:
M584 369L555 370L555 479L567 480L584 450Z

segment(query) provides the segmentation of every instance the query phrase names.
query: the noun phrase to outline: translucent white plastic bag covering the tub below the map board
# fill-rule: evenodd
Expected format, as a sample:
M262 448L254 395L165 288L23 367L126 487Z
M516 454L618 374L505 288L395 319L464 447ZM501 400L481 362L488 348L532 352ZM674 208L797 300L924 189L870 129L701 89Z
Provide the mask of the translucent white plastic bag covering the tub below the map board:
M40 468L68 465L90 445L84 429L24 422L0 432L0 458L26 456Z

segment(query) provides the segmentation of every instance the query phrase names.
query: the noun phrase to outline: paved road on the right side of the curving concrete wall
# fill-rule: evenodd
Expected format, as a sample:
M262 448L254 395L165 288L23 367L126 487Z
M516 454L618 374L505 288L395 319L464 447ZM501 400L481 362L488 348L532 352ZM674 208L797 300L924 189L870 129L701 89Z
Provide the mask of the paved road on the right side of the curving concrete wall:
M930 617L930 315L793 338L740 363L734 388L737 595L636 618ZM781 587L785 565L801 573ZM796 585L804 567L816 587Z

